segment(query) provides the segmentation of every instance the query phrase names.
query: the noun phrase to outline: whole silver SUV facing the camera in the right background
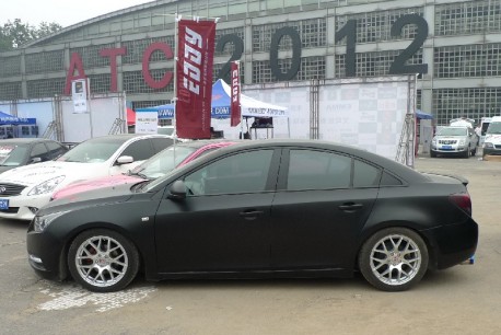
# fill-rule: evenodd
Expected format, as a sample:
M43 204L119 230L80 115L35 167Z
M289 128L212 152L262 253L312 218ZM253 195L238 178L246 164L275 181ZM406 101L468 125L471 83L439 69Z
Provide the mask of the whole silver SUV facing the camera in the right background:
M431 141L430 157L461 155L469 158L477 154L478 136L473 127L441 127Z

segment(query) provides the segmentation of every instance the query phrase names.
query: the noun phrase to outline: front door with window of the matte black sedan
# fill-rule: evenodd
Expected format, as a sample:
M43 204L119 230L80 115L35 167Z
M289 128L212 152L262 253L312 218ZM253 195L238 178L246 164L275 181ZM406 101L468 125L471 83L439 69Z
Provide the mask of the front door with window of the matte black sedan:
M188 195L161 201L161 273L249 272L269 267L273 150L237 153L183 177ZM275 175L272 175L275 174Z

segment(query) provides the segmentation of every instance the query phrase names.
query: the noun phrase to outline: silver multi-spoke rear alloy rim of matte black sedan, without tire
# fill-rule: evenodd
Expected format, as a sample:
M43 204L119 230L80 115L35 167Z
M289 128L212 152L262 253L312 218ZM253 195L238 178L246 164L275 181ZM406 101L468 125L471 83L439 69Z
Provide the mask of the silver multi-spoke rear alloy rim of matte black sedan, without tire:
M371 270L382 282L404 285L419 273L421 252L415 241L406 235L386 235L371 250Z

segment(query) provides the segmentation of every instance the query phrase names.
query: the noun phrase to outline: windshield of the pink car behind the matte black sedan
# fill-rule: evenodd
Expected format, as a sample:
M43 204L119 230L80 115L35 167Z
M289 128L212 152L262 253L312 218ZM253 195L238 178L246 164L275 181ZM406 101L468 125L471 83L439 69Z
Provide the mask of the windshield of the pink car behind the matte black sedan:
M171 146L133 169L131 174L141 174L149 180L155 180L174 170L196 150L197 148L193 147Z

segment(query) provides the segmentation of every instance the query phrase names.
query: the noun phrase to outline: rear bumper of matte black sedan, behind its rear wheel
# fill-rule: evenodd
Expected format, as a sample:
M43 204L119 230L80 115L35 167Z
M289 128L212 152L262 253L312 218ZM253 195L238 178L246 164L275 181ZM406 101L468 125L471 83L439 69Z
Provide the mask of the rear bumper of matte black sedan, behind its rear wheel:
M478 224L469 218L466 222L443 226L423 232L435 253L430 267L447 268L475 255L478 244Z

